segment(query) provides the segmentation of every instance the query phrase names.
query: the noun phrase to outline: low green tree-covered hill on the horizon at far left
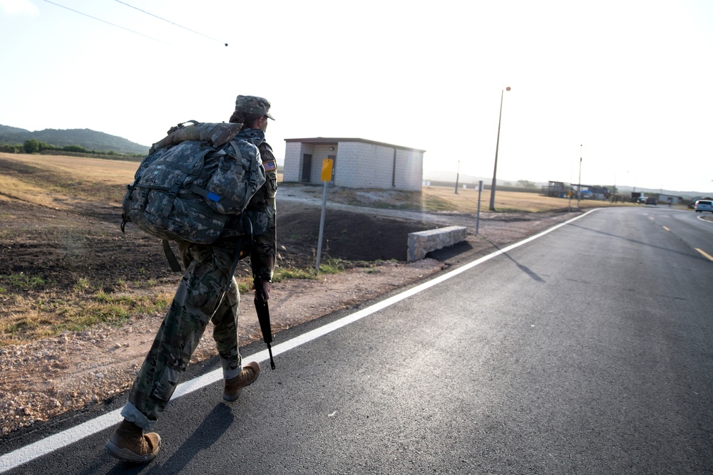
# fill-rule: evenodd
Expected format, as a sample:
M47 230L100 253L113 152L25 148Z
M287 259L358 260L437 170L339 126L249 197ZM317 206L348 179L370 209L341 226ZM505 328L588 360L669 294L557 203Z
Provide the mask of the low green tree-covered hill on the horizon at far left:
M97 132L90 129L45 129L30 132L19 127L0 125L0 144L15 145L24 143L26 140L36 139L47 145L56 147L66 147L67 145L79 145L87 150L97 150L102 152L117 152L125 154L148 154L148 146L130 142L116 135L109 135L104 132Z

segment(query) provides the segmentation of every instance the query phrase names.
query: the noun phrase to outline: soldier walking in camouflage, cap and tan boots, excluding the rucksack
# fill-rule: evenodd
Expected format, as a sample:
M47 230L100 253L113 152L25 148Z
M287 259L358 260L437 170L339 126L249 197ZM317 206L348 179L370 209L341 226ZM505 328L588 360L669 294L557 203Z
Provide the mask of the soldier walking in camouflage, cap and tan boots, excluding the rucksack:
M255 291L262 290L265 300L270 298L277 245L277 164L272 148L265 142L268 119L274 120L266 99L237 96L230 122L245 125L235 138L257 146L267 177L243 213L250 217L252 243L246 247L250 237L239 216L231 219L227 231L213 244L178 242L186 271L121 410L124 419L106 442L108 453L118 459L148 462L158 454L161 438L150 431L170 401L209 321L215 325L213 339L222 363L223 400L237 400L240 392L260 375L257 362L242 365L238 350L240 293L234 277L225 295L223 290L239 252L241 257L250 256L253 277L262 280L262 289Z

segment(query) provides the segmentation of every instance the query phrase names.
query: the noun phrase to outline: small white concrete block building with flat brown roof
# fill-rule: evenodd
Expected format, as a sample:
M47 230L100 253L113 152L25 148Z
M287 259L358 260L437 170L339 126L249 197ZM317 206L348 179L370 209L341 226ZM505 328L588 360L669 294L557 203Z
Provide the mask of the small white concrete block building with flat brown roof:
M349 188L421 191L424 152L359 138L285 139L285 182L322 183L322 160L334 160L332 183Z

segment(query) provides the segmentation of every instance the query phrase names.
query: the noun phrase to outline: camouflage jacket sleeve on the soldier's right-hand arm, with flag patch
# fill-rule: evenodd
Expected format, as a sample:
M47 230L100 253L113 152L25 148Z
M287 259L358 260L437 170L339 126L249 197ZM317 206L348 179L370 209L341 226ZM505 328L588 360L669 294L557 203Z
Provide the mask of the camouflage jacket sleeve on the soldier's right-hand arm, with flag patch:
M277 162L275 162L275 155L272 155L272 147L267 142L262 142L258 148L267 181L252 197L246 211L260 212L262 216L267 216L268 222L267 231L255 236L255 246L250 251L250 266L255 276L260 276L264 281L271 281L277 256L277 209L275 207Z

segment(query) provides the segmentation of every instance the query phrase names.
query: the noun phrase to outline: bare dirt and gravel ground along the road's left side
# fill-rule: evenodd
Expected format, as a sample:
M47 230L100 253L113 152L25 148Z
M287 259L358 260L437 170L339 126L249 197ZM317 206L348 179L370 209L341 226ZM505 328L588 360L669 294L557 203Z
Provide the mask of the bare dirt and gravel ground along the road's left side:
M0 345L0 427L2 436L10 437L11 432L56 414L125 397L180 275L170 272L156 239L131 225L121 234L116 202L55 194L38 203L6 190L0 192L0 323L6 325L0 335L5 342ZM485 254L570 216L486 213L476 236L472 214L365 209L347 203L378 204L379 193L342 195L334 197L342 204L330 204L327 211L322 254L325 266L341 271L275 283L270 301L275 343L280 330L414 283L457 264L463 253ZM321 196L319 187L280 188L280 269L314 265ZM389 199L389 194L381 199ZM404 262L409 232L448 224L471 230L457 252L436 255L440 260ZM247 265L238 273L247 275ZM138 302L144 296L163 300L153 308L137 307L124 318L108 320L113 323L46 330L44 336L34 330L61 322L80 304ZM105 311L106 305L101 308ZM215 355L210 332L209 328L194 362ZM240 344L259 338L252 299L244 297Z

